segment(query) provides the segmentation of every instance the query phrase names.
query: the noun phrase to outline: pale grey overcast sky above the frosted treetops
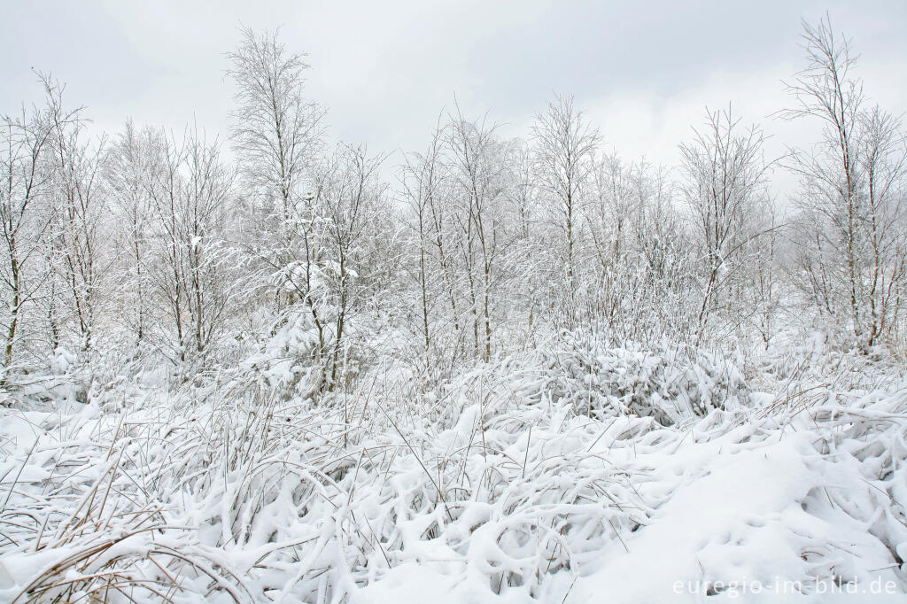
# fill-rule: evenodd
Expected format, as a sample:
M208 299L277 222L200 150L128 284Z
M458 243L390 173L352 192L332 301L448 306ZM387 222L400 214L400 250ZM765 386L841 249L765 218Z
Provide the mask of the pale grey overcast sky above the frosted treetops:
M327 105L332 137L374 151L421 148L454 94L518 134L558 92L628 158L675 162L704 106L728 102L775 152L809 138L770 115L788 102L781 80L803 66L801 18L826 9L861 54L866 93L907 110L902 1L0 0L0 112L38 98L34 67L67 83L99 129L132 116L225 134L224 54L245 24L282 27L308 54L308 96Z

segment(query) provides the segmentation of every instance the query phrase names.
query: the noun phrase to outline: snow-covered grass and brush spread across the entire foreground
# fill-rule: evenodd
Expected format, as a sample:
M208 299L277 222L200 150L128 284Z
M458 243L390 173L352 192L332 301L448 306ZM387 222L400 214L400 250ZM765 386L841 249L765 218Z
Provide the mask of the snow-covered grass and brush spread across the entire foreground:
M0 599L905 597L897 367L573 343L393 375L3 408Z

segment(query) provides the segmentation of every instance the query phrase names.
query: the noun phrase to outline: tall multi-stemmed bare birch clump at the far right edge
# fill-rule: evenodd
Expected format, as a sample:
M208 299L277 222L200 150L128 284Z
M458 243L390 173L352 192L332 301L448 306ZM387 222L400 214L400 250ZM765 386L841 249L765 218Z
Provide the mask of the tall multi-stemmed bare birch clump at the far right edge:
M817 306L844 311L853 336L872 346L895 323L905 268L904 137L901 123L867 107L850 40L826 17L803 24L807 66L788 91L788 119L823 124L822 140L795 150L801 180L799 267Z

